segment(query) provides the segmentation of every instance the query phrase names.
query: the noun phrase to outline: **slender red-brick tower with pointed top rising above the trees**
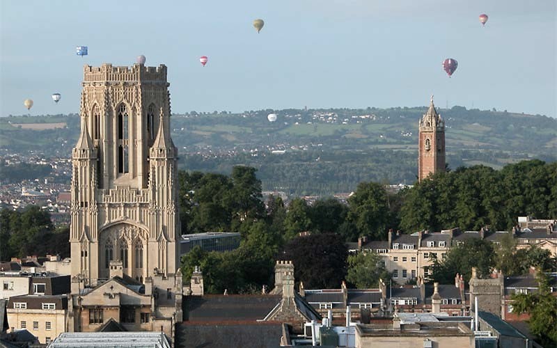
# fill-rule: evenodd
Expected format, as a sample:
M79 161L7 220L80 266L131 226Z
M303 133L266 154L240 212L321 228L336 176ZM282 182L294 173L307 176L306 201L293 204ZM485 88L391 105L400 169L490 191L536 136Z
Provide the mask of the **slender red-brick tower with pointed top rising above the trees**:
M445 171L445 121L435 110L433 95L430 108L419 121L418 181Z

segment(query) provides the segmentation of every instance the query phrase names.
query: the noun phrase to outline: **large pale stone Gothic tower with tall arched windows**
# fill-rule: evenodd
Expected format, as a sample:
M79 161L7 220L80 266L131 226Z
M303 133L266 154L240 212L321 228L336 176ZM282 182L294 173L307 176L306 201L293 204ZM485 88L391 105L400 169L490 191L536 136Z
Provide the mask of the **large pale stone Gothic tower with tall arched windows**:
M139 283L178 269L168 86L165 65L84 67L70 227L72 276L84 286L110 278L115 261Z

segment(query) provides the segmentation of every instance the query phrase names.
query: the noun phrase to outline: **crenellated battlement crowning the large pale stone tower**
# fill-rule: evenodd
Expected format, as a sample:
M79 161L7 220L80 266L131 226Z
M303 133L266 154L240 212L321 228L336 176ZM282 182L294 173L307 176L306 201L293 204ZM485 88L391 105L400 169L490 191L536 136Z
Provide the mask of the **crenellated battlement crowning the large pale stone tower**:
M84 65L83 81L88 82L162 82L166 83L166 65L148 67L145 65L134 64L127 66L112 66L105 63L100 67Z

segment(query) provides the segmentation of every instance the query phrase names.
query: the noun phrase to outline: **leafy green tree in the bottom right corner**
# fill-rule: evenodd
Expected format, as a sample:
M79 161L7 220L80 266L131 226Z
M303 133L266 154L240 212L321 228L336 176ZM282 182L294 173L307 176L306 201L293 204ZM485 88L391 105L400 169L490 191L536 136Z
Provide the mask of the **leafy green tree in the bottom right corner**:
M513 294L512 308L516 313L528 313L528 327L544 347L557 346L557 297L551 294L549 278L538 272L538 292Z

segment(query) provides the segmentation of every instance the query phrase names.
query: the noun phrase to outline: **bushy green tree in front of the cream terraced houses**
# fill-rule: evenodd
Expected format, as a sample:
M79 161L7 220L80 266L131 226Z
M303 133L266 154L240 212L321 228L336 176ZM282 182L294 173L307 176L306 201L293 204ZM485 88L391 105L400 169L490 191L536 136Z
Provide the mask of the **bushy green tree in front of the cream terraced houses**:
M433 280L441 284L450 284L458 273L468 281L471 278L472 267L476 267L478 276L486 276L494 265L493 254L491 242L485 239L466 239L464 243L450 248L444 260L434 261Z

